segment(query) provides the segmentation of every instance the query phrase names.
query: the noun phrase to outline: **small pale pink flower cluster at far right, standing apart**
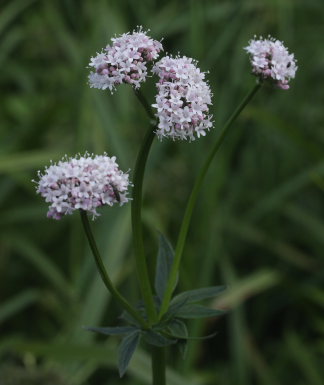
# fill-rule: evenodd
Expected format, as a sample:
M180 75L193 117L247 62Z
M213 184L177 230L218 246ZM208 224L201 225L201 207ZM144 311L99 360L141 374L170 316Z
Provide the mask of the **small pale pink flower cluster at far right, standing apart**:
M244 48L251 56L253 72L261 79L272 79L284 90L289 88L288 82L295 77L297 70L293 54L279 40L260 37L249 41Z

